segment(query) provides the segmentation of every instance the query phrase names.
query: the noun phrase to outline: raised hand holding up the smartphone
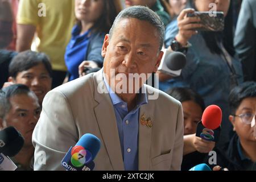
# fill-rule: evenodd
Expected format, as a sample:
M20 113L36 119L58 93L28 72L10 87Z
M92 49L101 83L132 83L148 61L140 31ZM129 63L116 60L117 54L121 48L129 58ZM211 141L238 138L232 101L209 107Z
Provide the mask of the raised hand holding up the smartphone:
M179 27L179 32L176 35L176 40L182 46L186 46L188 40L198 32L192 30L193 28L200 28L202 25L199 23L199 17L187 17L188 13L194 13L194 9L184 9L181 11L180 15L177 17L177 24Z

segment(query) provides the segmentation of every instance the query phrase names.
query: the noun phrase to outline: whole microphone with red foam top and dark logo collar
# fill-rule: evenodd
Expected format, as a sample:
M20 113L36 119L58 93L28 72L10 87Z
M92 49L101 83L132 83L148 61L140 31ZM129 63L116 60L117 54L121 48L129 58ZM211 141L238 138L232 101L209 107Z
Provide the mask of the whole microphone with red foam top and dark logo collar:
M222 111L217 105L208 106L197 124L196 136L217 142L221 130Z

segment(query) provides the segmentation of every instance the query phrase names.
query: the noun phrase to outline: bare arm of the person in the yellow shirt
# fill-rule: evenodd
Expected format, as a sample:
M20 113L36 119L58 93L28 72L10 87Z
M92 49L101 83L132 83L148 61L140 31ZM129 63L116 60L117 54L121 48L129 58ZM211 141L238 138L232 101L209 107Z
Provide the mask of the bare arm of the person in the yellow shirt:
M36 27L31 24L17 24L16 51L29 50L34 38Z

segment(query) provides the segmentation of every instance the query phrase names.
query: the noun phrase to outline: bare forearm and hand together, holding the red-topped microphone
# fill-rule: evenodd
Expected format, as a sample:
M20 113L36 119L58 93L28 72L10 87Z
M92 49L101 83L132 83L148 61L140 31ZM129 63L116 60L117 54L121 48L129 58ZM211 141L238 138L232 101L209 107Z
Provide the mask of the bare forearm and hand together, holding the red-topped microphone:
M213 150L215 142L204 140L196 137L196 134L184 135L183 155L198 151L200 153L208 153Z

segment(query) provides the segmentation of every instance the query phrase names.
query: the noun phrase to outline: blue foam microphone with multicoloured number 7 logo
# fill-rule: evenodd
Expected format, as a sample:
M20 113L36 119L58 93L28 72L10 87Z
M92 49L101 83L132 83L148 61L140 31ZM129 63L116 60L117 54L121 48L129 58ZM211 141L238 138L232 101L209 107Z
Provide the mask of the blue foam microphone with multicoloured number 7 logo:
M84 134L75 147L69 148L61 165L68 171L92 171L100 147L100 139L93 134Z

